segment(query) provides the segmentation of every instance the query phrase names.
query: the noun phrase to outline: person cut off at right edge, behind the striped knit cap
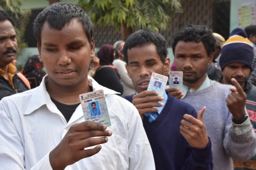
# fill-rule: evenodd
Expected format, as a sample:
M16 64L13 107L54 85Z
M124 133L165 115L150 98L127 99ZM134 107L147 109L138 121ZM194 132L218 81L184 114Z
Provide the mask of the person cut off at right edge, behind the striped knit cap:
M247 34L248 39L252 42L254 59L252 62L252 72L248 78L248 81L251 81L253 85L256 85L256 25L250 25L244 29Z

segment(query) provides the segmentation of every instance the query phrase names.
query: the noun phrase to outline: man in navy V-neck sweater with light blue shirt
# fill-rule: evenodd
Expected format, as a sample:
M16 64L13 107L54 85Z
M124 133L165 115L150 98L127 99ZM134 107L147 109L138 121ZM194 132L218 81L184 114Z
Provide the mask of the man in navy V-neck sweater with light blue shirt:
M136 94L124 97L138 109L152 147L156 169L212 169L211 141L198 111L167 92L148 91L152 73L170 70L166 40L150 30L136 31L125 42L124 60Z

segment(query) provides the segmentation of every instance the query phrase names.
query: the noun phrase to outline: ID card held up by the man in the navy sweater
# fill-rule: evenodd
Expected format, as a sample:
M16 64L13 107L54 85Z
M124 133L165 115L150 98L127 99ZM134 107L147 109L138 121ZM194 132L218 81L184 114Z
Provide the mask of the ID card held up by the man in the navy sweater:
M148 89L159 92L158 96L163 96L165 92L165 86L168 81L168 76L162 74L152 73L150 81L148 83Z

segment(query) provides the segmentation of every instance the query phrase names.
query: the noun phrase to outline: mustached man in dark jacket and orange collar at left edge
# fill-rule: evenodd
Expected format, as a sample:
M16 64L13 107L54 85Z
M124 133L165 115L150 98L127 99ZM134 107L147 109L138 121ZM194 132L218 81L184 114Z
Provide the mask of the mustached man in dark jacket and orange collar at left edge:
M17 68L11 63L18 48L13 24L13 19L5 11L0 11L0 100L29 90L24 83L26 78L17 73Z

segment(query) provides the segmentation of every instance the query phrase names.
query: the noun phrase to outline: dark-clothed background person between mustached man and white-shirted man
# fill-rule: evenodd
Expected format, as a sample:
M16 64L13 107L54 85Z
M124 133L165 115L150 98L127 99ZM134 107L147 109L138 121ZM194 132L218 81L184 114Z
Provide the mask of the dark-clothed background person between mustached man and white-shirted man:
M38 56L39 55L33 55L32 57L29 57L24 69L20 71L20 73L24 74L28 79L31 89L38 87L45 76L45 72L42 70L44 65L40 62Z

